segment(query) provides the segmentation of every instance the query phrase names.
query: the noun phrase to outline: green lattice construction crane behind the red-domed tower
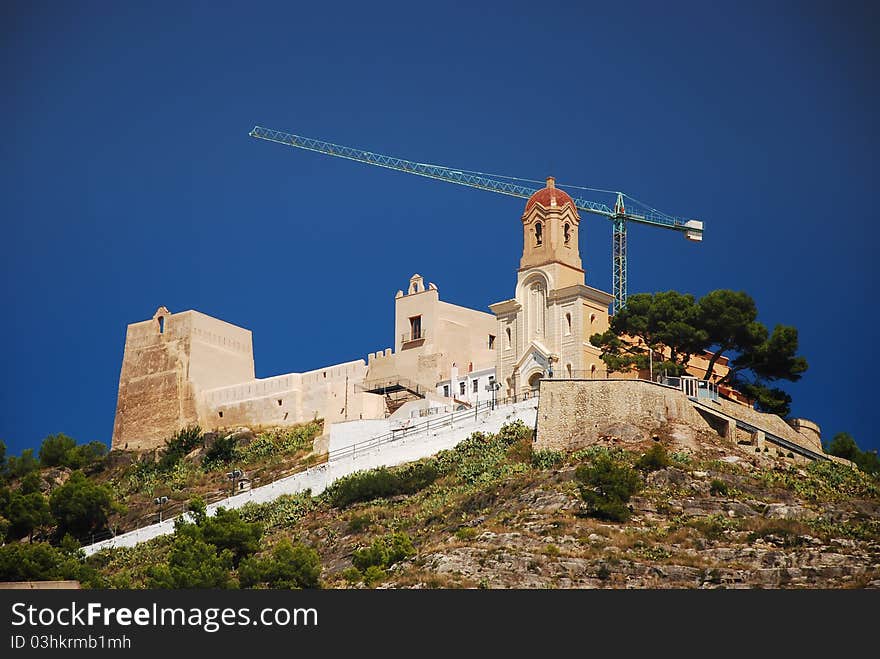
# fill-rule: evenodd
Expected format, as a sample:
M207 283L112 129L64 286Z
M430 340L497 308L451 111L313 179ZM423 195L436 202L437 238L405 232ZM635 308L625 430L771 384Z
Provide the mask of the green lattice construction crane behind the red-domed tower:
M333 144L332 142L325 142L324 140L318 140L311 137L303 137L301 135L285 133L280 130L263 128L262 126L254 126L254 129L250 132L250 136L268 142L277 142L278 144L294 146L298 149L316 151L328 156L346 158L348 160L354 160L368 165L376 165L377 167L385 167L399 172L406 172L407 174L415 174L417 176L438 179L440 181L448 181L449 183L458 183L459 185L467 185L479 190L489 190L490 192L506 194L512 197L528 199L539 189L520 184L522 182L538 183L538 181L530 179L502 176L499 174L484 174L482 172L453 169L451 167L444 167L443 165L413 162L411 160L386 156L381 153L373 153L372 151L364 151L363 149L357 149L350 146ZM662 213L623 192L597 190L595 188L584 188L580 186L566 187L616 195L616 201L613 206L608 206L601 202L572 197L578 210L593 213L594 215L601 215L611 220L612 269L614 273L613 313L617 313L626 306L626 225L628 222L636 222L638 224L647 224L662 229L679 231L684 234L685 238L692 241L699 242L703 239L703 223L699 220L685 220L681 217ZM630 202L629 210L627 210L627 201ZM636 211L636 208L639 210Z

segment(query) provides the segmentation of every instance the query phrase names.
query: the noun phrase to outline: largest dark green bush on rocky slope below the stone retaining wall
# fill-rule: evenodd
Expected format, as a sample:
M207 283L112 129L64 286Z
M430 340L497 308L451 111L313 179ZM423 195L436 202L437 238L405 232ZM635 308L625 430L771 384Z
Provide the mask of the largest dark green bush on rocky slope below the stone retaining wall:
M612 522L625 522L630 518L632 513L627 503L641 489L642 483L629 466L599 454L592 463L577 468L575 479L592 516Z

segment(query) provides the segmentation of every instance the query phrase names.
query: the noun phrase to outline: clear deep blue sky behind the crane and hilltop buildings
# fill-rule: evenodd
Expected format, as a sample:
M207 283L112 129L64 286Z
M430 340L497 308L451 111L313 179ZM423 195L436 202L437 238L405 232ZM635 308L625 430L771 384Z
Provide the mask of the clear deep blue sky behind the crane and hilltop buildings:
M880 447L876 5L610 4L3 3L0 439L109 442L125 327L160 304L253 330L263 377L393 345L414 272L513 295L523 200L260 124L704 220L630 227L630 293L749 292L800 330L794 414ZM580 239L610 291L609 223Z

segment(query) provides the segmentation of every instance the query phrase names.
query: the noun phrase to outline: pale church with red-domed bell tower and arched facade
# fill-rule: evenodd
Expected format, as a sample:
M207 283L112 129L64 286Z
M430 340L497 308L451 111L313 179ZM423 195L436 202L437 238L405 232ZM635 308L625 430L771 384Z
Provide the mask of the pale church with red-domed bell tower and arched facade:
M608 328L612 296L584 283L574 200L549 177L526 202L521 222L516 296L489 307L501 337L502 394L536 389L544 377L605 377L589 337Z

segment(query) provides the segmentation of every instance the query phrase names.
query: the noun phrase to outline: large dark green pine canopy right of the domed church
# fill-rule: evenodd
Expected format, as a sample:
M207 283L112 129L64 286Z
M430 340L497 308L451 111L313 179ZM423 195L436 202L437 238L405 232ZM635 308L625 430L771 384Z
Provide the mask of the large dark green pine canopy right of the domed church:
M699 300L676 291L639 293L590 343L601 348L612 372L647 369L653 351L655 372L681 375L694 355L705 352L703 379L710 380L726 357L728 372L718 384L739 389L762 411L785 416L791 396L770 383L799 380L807 361L797 354L797 329L777 325L770 333L757 317L755 301L743 291L716 290Z

